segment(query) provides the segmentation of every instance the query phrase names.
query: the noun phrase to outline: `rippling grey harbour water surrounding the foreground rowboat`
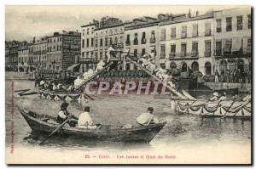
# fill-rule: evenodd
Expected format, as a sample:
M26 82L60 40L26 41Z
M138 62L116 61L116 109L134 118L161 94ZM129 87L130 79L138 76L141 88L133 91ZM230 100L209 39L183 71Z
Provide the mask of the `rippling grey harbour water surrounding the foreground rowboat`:
M6 80L6 145L10 145L10 99L11 99L11 80ZM15 80L15 90L33 89L33 82ZM207 96L205 96L207 97ZM61 101L42 100L38 95L15 96L15 115L14 115L14 141L16 147L26 149L55 149L81 151L108 150L108 152L121 152L123 149L160 149L162 146L172 145L176 148L187 149L202 146L222 144L232 144L236 146L250 146L251 142L251 121L241 121L227 119L202 120L198 115L177 115L170 109L170 100L154 99L153 96L97 96L95 101L86 99L84 103L72 103L68 109L74 115L79 115L84 105L90 105L91 116L95 123L124 125L135 124L136 118L148 106L154 107L154 115L159 119L167 121L166 126L152 140L150 144L123 144L123 143L101 143L88 142L78 138L49 138L49 142L44 146L38 146L38 139L27 138L31 134L31 129L26 124L24 118L17 110L17 106L24 106L30 110L47 115L56 115ZM27 138L27 139L26 139Z

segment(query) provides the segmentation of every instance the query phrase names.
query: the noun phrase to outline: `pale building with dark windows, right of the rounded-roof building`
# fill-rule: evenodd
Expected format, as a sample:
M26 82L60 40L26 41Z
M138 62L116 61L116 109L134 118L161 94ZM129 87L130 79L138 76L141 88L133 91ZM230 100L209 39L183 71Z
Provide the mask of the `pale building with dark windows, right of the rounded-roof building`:
M158 19L161 19L161 17L162 14L159 15ZM158 19L143 16L143 18L137 18L125 23L124 48L130 50L131 55L140 57L143 54L158 50ZM135 65L126 60L124 60L123 66L124 70L137 69Z

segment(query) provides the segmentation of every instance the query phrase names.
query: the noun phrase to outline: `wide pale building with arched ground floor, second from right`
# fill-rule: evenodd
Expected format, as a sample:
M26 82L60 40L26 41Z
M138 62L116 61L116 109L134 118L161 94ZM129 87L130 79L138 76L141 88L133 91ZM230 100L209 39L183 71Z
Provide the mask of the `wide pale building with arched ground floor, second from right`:
M195 16L177 14L162 20L159 26L159 64L167 69L213 73L213 14Z

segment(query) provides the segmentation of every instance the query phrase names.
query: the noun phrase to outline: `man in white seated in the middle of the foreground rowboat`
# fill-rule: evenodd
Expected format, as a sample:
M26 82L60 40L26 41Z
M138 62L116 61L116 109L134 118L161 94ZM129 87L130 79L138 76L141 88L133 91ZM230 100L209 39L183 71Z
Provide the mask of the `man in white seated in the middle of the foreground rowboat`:
M90 115L90 107L84 107L84 112L79 115L78 127L79 128L87 128L87 129L96 129L98 128L96 125L93 124Z

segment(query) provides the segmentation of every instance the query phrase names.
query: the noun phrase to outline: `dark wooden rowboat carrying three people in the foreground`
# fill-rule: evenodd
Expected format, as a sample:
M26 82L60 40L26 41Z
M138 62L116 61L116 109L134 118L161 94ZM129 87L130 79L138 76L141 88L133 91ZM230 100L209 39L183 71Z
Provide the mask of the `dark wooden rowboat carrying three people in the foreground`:
M21 115L25 118L32 132L47 133L53 132L60 124L56 118L50 115L40 115L25 108L19 108ZM78 136L84 139L113 141L113 142L145 142L149 143L160 130L166 125L166 121L150 124L146 127L123 128L123 126L102 125L99 129L84 129L79 127L61 128L56 133L58 136Z

